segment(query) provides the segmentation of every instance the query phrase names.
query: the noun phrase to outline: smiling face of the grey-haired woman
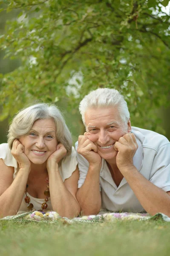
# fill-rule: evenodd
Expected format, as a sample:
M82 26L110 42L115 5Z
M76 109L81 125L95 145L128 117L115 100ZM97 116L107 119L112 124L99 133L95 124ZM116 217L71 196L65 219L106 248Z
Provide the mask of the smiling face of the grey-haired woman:
M31 130L19 139L24 153L34 164L45 163L57 149L56 127L53 119L38 119Z

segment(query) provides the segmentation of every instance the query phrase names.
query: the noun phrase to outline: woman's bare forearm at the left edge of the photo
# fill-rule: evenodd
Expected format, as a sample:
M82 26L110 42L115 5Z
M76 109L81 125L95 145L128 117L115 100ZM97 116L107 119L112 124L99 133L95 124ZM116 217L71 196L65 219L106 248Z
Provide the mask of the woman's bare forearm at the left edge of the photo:
M21 168L12 184L0 196L0 218L17 214L26 189L28 176L29 169Z

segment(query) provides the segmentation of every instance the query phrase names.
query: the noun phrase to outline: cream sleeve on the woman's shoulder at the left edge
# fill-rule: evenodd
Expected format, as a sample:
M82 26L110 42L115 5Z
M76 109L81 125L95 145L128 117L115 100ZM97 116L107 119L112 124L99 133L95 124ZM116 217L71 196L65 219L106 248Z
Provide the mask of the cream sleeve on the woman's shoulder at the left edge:
M9 148L8 143L0 144L0 158L3 159L6 166L12 166L17 168L17 161L11 154L11 150Z

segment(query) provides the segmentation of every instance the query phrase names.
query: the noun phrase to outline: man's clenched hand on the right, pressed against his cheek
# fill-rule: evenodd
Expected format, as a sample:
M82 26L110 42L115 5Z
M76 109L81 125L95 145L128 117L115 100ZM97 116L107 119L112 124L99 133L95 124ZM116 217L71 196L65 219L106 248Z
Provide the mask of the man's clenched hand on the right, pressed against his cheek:
M118 142L115 143L114 148L118 151L116 156L116 164L118 169L123 171L126 168L133 166L133 157L138 148L135 135L127 133L120 137Z

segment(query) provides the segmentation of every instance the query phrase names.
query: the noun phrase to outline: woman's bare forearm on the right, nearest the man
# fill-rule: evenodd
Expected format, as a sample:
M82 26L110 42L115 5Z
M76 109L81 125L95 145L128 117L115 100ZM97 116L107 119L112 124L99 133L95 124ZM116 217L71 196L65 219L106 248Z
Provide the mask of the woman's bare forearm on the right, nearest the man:
M73 218L80 213L80 205L63 183L58 167L49 172L52 209L62 217Z

